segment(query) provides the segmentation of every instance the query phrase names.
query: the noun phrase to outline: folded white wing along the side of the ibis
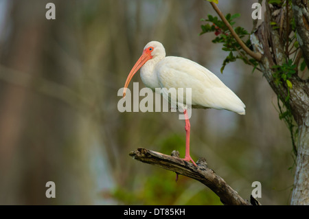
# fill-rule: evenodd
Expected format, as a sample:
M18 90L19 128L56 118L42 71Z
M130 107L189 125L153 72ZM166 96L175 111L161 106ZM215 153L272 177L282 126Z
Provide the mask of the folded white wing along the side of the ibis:
M157 63L161 87L191 88L192 105L244 114L244 103L214 73L186 58L168 56Z

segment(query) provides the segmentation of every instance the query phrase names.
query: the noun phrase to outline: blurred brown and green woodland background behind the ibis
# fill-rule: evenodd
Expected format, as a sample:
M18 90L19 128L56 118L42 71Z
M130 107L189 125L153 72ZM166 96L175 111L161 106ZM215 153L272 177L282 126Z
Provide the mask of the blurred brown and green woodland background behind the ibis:
M48 2L56 20L45 19ZM218 5L250 32L254 2ZM222 205L201 183L128 156L185 152L178 113L117 111L118 89L155 40L214 72L247 106L244 116L194 109L192 158L205 157L243 198L260 181L263 205L288 205L295 166L277 97L240 61L220 73L228 53L213 33L198 35L207 14L216 15L202 0L0 0L0 204ZM46 198L47 181L56 198Z

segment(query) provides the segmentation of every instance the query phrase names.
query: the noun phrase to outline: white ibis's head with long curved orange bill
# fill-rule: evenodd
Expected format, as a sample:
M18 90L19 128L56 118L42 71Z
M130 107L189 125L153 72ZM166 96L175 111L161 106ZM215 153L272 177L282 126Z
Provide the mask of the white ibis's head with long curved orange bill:
M131 69L128 78L126 78L126 83L124 84L124 93L123 97L126 96L126 89L128 88L128 84L130 83L130 80L133 78L135 73L150 59L153 58L163 58L165 57L165 49L162 45L162 43L159 43L158 41L151 41L147 43L147 45L144 47L143 54L141 54L141 57L139 57L139 60L135 63L133 68Z

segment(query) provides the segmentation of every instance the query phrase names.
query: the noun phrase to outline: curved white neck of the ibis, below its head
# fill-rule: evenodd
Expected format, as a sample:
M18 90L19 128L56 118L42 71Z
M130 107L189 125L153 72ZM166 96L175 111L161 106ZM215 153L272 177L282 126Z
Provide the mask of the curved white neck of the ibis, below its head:
M141 80L146 87L149 87L152 90L155 90L157 87L161 87L157 77L157 72L155 71L155 67L158 62L162 60L162 58L164 57L152 58L141 67Z

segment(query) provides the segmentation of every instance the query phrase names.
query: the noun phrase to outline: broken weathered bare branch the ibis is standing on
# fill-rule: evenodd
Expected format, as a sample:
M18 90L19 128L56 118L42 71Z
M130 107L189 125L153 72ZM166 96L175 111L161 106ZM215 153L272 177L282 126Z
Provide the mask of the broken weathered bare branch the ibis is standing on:
M172 153L172 156L168 156L145 148L137 148L137 150L130 152L129 155L137 161L157 165L160 168L176 172L176 174L188 176L200 181L216 193L224 205L250 205L248 200L244 200L240 197L223 178L218 176L214 170L207 167L205 159L198 159L196 162L198 166L195 167L192 163L180 159L179 152L178 154L176 154L177 152L175 153L175 151ZM251 200L253 200L251 203L255 205L260 204L253 197L251 197Z

